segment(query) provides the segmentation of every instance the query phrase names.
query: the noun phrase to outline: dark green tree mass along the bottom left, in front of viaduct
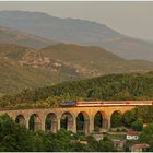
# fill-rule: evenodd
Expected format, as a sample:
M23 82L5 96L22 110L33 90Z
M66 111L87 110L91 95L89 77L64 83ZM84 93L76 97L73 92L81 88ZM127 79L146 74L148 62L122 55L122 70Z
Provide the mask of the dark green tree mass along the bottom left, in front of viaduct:
M85 143L81 143L84 140ZM7 115L0 117L1 152L106 152L116 151L108 138L96 141L92 136L72 133L61 129L57 133L32 132L19 126Z

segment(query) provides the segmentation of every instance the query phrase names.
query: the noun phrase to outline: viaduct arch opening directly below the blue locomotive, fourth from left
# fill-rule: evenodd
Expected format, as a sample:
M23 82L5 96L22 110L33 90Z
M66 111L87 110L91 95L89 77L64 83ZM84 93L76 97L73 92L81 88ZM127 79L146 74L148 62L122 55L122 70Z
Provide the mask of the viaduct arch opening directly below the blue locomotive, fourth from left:
M60 128L73 131L73 117L70 113L62 114L60 118Z

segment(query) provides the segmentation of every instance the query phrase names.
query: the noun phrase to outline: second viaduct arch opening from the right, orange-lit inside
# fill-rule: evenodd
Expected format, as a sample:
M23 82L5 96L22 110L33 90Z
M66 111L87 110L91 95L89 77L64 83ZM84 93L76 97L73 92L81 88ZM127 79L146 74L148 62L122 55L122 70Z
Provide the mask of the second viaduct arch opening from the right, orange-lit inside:
M94 131L108 129L108 118L105 111L98 110L94 115Z

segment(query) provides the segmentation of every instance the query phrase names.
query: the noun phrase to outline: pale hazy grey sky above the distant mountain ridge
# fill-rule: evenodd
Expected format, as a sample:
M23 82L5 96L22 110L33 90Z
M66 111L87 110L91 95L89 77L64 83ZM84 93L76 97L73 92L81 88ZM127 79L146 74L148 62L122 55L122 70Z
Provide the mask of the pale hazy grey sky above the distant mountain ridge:
M129 36L153 40L153 1L150 2L2 2L0 10L46 12L59 17L86 19Z

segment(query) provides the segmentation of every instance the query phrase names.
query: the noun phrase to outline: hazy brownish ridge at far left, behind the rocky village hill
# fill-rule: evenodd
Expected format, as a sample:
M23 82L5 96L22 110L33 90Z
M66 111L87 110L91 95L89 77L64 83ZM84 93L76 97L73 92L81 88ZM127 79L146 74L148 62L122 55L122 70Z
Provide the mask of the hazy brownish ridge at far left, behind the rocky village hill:
M55 44L52 40L39 36L26 34L24 32L0 26L0 44L19 44L33 48L43 48Z

